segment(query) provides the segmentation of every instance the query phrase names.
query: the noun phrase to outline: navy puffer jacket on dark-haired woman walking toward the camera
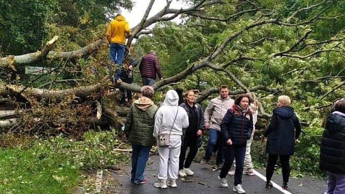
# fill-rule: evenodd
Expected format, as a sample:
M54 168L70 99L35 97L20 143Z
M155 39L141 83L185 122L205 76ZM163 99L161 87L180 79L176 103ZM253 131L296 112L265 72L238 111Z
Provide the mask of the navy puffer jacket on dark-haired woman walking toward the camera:
M231 139L234 145L245 146L253 131L253 117L250 110L242 110L234 104L220 124L224 140Z

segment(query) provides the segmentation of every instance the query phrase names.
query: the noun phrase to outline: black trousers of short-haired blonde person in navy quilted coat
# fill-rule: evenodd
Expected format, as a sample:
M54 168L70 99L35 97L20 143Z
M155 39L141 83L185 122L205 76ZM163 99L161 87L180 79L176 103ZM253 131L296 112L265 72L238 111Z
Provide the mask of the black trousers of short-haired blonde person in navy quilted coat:
M271 181L271 178L273 176L273 172L275 170L275 165L278 160L278 156L280 159L280 165L281 165L281 172L283 174L283 182L287 183L289 182L289 176L290 176L290 155L276 155L276 154L269 154L268 155L268 163L266 167L266 178L267 182Z

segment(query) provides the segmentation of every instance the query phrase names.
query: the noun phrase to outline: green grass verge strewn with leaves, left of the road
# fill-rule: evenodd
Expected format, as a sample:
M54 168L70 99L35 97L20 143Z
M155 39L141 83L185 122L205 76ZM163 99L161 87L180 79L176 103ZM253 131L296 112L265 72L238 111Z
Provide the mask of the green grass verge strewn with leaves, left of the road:
M78 184L92 190L92 181L84 183L84 170L129 161L126 153L113 150L119 145L123 143L115 130L90 130L82 141L63 135L32 137L15 147L0 148L0 194L72 194Z

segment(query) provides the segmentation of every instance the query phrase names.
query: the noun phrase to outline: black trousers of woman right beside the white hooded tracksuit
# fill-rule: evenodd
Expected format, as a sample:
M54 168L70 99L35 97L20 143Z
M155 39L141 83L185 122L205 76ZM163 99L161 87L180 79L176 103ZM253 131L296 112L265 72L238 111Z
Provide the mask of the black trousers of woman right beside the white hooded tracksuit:
M179 158L179 170L185 168L189 168L190 165L192 164L195 156L198 153L198 146L197 146L197 136L184 136L184 140L182 141L183 144L181 146L181 153L180 153L180 158ZM189 147L189 152L186 158L186 152L187 148ZM184 161L186 160L186 161Z

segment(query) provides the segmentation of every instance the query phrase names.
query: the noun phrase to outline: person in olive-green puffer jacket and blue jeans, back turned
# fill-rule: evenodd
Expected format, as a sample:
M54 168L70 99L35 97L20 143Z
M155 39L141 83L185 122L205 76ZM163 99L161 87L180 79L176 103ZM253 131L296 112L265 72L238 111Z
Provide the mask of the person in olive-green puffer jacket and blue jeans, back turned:
M154 91L151 86L143 86L141 95L135 100L127 115L125 134L132 144L132 171L131 180L134 184L144 184L147 179L143 173L152 145L156 143L153 137L155 114L158 107L150 99Z

